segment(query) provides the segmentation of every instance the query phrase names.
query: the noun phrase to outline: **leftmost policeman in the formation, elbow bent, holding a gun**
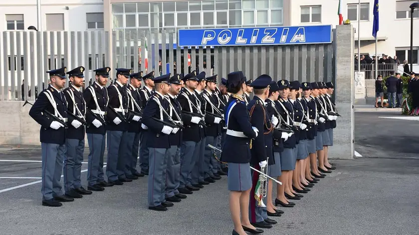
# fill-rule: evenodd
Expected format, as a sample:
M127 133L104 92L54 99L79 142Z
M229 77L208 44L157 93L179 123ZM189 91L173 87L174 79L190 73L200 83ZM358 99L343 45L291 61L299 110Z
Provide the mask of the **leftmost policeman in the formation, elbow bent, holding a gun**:
M67 102L61 89L65 85L63 67L47 71L51 85L43 90L29 111L30 117L41 125L40 141L42 148L42 206L60 207L60 202L72 202L61 191L61 172L64 156L67 154L65 145L67 125ZM51 116L46 116L48 111ZM65 124L65 125L64 125Z

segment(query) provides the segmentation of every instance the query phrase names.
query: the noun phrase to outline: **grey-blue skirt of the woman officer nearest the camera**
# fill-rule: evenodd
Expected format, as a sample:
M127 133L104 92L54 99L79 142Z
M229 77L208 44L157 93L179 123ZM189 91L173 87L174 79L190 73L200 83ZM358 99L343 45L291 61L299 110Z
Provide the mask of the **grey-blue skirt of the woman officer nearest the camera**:
M249 163L228 162L228 190L246 191L252 188L252 176Z

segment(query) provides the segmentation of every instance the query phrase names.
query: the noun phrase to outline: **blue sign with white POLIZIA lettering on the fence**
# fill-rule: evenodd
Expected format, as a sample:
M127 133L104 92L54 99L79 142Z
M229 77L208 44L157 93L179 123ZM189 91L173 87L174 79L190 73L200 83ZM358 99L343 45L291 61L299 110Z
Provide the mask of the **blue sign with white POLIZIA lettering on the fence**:
M179 46L250 46L332 43L332 25L179 29Z

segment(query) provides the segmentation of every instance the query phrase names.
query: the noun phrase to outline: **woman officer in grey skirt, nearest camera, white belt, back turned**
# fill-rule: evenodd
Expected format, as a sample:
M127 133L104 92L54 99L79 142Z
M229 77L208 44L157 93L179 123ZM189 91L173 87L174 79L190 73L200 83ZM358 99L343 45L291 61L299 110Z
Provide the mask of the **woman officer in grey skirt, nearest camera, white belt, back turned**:
M249 195L252 188L250 175L251 139L258 132L250 124L249 113L243 100L245 78L241 71L227 75L227 91L232 93L224 108L227 133L221 154L221 161L228 163L228 190L231 219L234 223L233 235L263 233L255 229L249 221ZM240 221L241 212L241 221Z

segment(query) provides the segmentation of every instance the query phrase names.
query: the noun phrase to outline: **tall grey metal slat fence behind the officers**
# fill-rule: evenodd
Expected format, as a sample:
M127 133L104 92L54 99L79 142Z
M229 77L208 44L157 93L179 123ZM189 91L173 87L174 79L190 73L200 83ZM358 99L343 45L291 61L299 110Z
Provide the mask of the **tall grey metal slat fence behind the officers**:
M84 66L86 86L94 81L93 70L105 66L112 68L111 78L115 68L133 68L161 74L206 71L219 79L242 70L247 79L266 73L274 80L334 82L334 43L181 48L176 36L143 30L2 32L0 100L34 100L48 85L46 71L63 66L67 71Z

